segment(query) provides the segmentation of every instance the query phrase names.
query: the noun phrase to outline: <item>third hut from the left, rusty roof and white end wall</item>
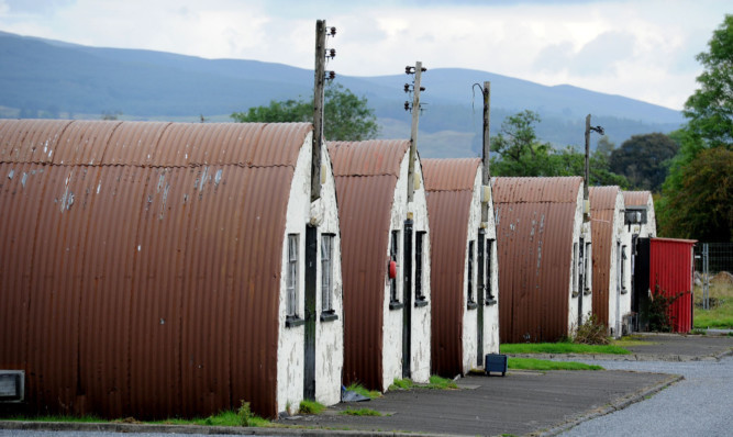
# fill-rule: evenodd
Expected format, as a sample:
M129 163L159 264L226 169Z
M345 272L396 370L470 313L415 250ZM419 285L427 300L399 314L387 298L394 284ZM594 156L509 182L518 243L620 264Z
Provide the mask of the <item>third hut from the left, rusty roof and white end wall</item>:
M423 159L431 243L432 369L444 377L499 352L498 264L480 158ZM488 187L486 192L488 193ZM481 222L481 202L489 221Z

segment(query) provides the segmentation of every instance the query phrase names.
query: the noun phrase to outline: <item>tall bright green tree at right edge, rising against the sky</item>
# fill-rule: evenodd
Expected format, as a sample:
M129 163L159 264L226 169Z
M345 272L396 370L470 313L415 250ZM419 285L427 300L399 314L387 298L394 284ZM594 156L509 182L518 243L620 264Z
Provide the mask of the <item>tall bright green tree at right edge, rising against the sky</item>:
M733 144L733 15L725 15L708 43L709 52L700 53L704 71L698 76L700 89L685 103L688 130L710 146Z

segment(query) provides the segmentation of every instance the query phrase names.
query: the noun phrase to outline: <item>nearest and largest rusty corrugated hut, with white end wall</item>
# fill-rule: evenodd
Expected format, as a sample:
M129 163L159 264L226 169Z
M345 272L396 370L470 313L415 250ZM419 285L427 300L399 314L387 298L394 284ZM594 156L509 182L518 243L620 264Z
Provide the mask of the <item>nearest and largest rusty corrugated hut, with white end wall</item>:
M29 403L164 418L247 401L275 416L313 381L338 402L335 188L323 171L311 203L311 135L0 121L0 369L25 370Z

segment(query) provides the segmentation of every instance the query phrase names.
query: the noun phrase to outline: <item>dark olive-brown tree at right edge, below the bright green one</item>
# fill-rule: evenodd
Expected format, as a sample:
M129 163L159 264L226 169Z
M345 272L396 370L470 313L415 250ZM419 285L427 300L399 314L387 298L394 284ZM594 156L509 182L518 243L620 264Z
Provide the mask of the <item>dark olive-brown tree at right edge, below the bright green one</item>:
M682 169L681 184L669 194L660 233L733 243L733 150L701 152Z

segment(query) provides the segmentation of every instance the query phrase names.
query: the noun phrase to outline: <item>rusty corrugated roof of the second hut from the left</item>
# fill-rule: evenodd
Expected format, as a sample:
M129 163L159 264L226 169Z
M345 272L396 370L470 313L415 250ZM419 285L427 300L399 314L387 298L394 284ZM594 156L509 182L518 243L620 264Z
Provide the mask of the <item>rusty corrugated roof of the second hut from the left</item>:
M329 143L344 282L344 383L386 390L382 305L395 188L409 141Z

